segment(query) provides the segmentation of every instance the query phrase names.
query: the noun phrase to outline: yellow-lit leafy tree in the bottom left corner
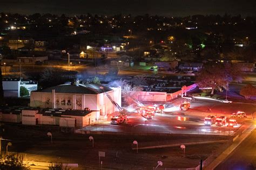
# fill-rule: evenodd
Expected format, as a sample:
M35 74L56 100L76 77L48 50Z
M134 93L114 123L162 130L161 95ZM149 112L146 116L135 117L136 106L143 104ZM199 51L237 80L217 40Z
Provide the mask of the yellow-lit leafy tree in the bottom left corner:
M23 163L23 156L12 154L12 155L1 155L0 169L25 170L25 169L30 169L30 168L29 168L29 165L26 165Z

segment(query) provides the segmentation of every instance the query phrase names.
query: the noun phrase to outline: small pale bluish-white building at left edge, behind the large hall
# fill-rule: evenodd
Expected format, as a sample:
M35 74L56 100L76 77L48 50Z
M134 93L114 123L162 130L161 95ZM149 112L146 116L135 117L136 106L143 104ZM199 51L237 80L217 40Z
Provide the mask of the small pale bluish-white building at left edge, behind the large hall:
M37 82L31 80L3 79L4 97L21 97L21 87L29 91L37 90Z

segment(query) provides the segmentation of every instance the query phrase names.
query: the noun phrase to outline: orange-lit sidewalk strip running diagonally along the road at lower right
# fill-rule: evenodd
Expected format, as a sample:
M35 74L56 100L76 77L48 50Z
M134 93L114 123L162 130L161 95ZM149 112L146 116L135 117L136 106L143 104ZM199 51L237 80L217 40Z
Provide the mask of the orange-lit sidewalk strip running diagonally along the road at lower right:
M215 160L213 160L209 165L205 166L204 169L214 169L217 167L221 162L223 162L228 155L230 155L241 143L244 141L254 130L254 124L250 126L250 128L246 129L246 131L241 134L235 141L233 141L233 144L226 148L226 150L221 153Z

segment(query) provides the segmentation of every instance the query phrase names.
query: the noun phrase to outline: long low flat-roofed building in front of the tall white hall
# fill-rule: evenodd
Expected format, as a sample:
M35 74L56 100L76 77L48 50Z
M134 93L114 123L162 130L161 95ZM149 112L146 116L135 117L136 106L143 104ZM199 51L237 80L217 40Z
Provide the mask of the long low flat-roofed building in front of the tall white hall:
M24 125L57 125L67 128L95 124L98 117L95 110L63 110L14 107L0 109L0 121Z

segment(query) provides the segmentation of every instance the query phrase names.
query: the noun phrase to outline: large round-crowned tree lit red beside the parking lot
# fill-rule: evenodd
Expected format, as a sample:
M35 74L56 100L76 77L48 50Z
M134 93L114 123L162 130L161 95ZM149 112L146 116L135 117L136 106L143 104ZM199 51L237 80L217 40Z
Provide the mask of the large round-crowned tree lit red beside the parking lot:
M221 65L220 63L212 63L205 65L196 77L199 87L211 87L211 94L214 90L228 89L228 84L232 81L240 81L241 72L238 68L231 64Z

